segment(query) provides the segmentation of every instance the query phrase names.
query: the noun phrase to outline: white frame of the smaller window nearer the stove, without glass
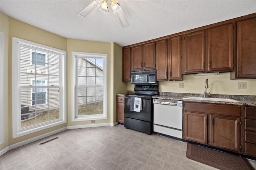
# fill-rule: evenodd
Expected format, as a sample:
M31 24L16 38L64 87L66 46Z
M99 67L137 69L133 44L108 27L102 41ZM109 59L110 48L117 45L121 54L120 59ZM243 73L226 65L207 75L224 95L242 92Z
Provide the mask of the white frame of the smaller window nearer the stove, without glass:
M99 115L79 115L78 116L78 104L77 104L77 57L91 57L105 59L104 62L104 99L103 99L103 114ZM84 53L84 52L72 52L72 121L88 121L88 120L101 120L108 119L108 69L107 69L107 54L100 53Z

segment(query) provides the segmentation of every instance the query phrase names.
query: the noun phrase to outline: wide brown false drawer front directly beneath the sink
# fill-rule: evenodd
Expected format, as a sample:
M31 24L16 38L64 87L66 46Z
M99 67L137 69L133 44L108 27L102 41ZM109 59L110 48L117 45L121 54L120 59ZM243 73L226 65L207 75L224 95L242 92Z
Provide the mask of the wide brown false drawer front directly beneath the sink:
M241 106L236 106L236 105L185 102L184 110L192 111L192 112L200 112L200 113L238 116L238 117L241 115Z

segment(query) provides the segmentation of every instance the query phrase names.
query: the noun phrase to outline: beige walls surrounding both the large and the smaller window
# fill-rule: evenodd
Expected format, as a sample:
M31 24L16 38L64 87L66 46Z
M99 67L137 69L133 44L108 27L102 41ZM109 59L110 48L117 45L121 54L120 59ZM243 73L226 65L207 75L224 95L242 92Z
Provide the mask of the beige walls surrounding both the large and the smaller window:
M116 94L127 91L127 83L122 82L122 47L116 43L66 39L22 21L10 18L2 12L0 28L1 31L4 32L5 37L4 72L6 74L4 74L4 82L6 83L4 83L4 98L7 99L4 100L4 143L0 146L0 150L12 144L62 127L90 124L90 121L71 121L72 51L108 54L108 119L96 120L96 123L116 122ZM67 51L67 123L12 139L12 37Z

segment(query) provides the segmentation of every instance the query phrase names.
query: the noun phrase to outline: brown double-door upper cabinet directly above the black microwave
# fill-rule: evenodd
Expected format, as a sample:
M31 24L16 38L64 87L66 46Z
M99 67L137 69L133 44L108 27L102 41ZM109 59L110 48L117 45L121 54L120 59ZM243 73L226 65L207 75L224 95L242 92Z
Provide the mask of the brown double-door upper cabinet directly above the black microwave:
M155 42L131 47L132 71L155 69Z

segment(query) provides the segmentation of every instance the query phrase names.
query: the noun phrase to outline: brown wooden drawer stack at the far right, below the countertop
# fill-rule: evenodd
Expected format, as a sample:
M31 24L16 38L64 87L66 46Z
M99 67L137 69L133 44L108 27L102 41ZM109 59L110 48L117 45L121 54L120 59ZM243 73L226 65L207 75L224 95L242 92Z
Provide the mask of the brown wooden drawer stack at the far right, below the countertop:
M256 107L245 106L244 154L256 157Z

